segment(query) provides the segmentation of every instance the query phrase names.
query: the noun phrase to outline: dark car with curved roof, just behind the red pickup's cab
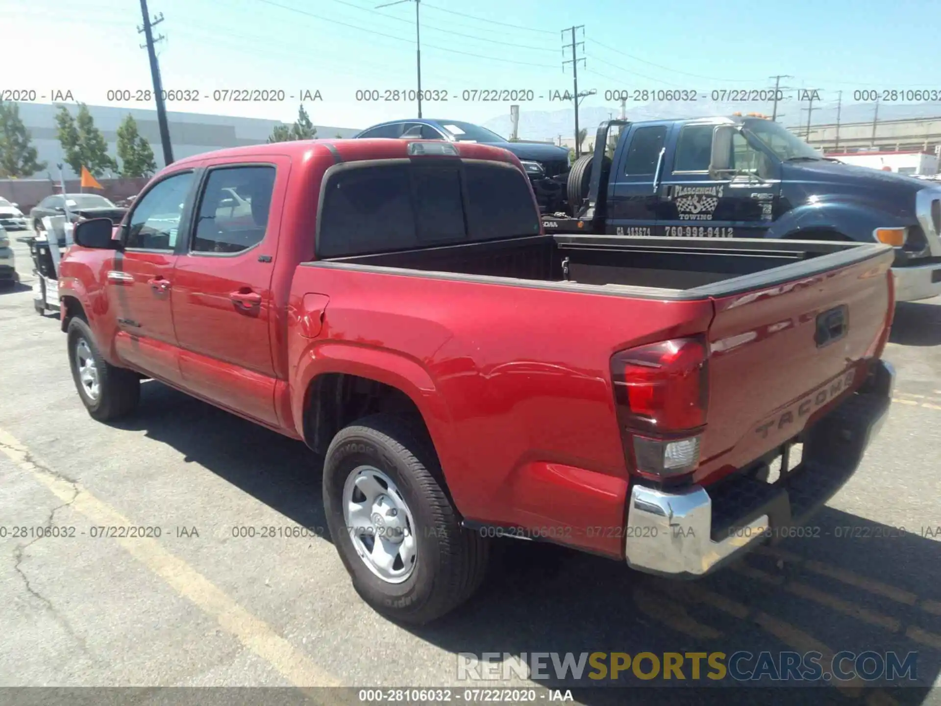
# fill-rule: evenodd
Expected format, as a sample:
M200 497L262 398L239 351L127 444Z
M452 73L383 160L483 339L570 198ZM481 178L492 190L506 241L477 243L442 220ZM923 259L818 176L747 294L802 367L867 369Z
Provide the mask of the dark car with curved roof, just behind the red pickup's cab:
M562 207L568 175L568 150L564 147L540 142L511 142L486 127L463 120L390 120L366 128L357 137L443 139L502 147L516 154L522 162L539 209L544 213L554 213Z

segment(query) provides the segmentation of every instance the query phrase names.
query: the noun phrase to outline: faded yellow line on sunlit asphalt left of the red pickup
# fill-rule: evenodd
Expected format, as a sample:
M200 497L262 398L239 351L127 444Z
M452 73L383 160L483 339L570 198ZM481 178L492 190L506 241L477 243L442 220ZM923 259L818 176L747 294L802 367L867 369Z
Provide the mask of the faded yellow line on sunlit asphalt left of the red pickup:
M85 515L96 525L133 526L114 507L99 500L77 483L65 480L42 468L29 450L0 429L0 451L22 471L29 473L50 489L63 503ZM339 686L341 682L275 632L261 618L249 613L183 559L170 554L152 538L115 538L115 541L147 569L163 579L186 600L215 618L223 630L232 634L295 686Z

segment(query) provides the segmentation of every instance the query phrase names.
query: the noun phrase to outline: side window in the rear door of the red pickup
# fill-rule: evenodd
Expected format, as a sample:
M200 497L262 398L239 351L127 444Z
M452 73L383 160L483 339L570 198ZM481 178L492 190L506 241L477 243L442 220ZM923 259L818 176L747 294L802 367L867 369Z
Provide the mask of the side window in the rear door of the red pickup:
M268 227L275 168L216 168L199 201L193 252L241 252L261 243Z

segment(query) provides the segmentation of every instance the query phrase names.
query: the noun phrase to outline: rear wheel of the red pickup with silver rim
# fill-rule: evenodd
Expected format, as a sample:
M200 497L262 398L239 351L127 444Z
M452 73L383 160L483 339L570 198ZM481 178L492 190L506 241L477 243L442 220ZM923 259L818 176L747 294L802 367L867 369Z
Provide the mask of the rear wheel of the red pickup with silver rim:
M375 414L343 428L324 462L330 536L359 596L422 625L465 602L486 573L486 538L461 526L437 457L403 420Z

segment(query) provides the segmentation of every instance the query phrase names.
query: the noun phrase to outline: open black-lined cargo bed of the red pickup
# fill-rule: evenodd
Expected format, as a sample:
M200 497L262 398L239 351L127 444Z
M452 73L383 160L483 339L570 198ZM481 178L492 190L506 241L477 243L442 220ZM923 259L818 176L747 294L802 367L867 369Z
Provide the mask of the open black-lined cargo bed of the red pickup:
M884 251L882 245L858 243L548 234L321 263L551 282L571 288L587 285L594 291L612 286L628 288L623 291L640 297L699 298L774 286Z

